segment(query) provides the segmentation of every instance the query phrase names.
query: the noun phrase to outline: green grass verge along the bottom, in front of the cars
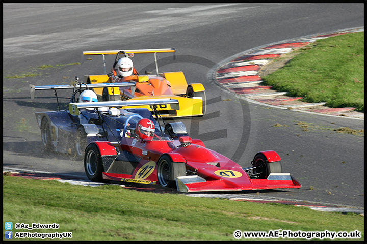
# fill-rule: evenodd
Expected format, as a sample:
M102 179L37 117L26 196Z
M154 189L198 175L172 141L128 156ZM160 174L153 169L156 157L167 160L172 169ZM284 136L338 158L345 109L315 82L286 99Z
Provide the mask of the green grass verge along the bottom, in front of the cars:
M116 185L75 186L12 176L3 176L3 220L3 223L13 222L13 225L56 223L60 225L59 229L13 229L13 234L20 231L72 232L72 239L64 240L236 240L233 237L235 230L279 229L358 230L361 238L351 240L364 239L364 216L358 214L319 212L282 204L138 192Z

